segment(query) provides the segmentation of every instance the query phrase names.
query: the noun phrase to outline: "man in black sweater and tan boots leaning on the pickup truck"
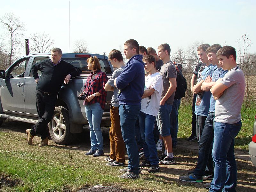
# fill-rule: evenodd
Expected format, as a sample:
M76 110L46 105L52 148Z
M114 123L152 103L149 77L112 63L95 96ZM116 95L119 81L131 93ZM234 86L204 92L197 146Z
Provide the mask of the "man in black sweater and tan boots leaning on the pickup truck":
M60 48L51 50L52 59L43 60L35 63L31 67L32 75L36 81L36 109L38 113L38 122L31 128L27 129L27 141L32 145L34 135L41 135L39 147L48 145L47 124L52 119L56 104L57 94L63 84L69 83L71 77L78 76L82 73L79 68L70 63L61 60L62 52ZM41 71L39 78L37 71Z

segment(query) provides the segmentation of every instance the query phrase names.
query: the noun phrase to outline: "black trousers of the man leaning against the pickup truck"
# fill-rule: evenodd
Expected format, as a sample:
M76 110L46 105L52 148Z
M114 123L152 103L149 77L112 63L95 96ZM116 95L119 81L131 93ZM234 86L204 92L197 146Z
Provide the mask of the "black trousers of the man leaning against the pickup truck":
M33 125L30 134L40 135L44 140L48 137L47 124L51 121L56 104L57 95L45 95L36 90L36 110L38 113L38 122Z

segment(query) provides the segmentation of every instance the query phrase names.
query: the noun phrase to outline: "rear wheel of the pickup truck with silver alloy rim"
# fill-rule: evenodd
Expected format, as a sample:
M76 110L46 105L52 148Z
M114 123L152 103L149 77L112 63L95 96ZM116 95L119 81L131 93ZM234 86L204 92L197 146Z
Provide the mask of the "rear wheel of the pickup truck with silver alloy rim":
M59 145L66 145L76 140L76 134L70 132L68 110L62 106L55 107L48 127L52 140Z

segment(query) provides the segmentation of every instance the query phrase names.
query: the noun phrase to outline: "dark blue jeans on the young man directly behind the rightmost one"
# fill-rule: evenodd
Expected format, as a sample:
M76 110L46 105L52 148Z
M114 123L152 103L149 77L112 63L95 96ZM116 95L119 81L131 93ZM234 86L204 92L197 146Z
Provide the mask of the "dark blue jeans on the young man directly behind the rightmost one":
M198 145L198 163L193 172L196 177L204 176L206 165L209 169L209 173L213 174L212 141L214 137L214 118L215 113L209 112L205 120L203 133Z

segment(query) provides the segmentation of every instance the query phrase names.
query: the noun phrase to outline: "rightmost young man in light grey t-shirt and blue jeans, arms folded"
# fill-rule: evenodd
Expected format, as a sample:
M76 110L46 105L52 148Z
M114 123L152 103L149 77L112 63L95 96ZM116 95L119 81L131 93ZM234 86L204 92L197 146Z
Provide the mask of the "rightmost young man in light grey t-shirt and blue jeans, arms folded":
M215 168L210 191L236 191L234 139L242 126L240 112L244 100L245 78L236 64L234 47L224 46L216 56L220 60L220 66L228 72L211 88L216 103L212 149Z

